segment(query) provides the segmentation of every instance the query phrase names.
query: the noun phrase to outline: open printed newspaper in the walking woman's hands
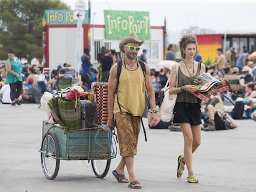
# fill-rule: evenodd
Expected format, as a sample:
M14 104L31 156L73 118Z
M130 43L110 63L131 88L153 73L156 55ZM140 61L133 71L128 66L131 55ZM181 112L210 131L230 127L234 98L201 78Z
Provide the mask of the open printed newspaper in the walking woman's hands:
M228 84L226 80L223 78L218 80L208 73L202 73L197 78L195 78L191 84L197 87L197 91L193 93L194 96L204 102L207 102L213 93L228 91Z

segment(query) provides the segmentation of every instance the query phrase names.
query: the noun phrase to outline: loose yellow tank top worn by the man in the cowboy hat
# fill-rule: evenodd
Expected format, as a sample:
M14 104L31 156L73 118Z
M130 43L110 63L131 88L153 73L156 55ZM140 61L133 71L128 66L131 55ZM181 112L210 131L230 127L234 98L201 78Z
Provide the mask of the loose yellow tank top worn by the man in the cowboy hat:
M117 67L117 64L115 64ZM122 112L129 112L134 116L141 116L145 108L145 78L142 68L127 70L123 65L119 77L117 94L114 96L114 114L120 112L118 101Z

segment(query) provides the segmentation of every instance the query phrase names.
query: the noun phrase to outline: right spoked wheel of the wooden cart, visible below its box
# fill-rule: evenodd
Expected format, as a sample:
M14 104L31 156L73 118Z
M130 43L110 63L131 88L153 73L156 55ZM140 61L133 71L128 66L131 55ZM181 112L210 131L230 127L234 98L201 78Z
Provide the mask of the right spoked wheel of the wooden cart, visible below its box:
M111 159L92 160L92 169L96 177L104 178L108 174Z

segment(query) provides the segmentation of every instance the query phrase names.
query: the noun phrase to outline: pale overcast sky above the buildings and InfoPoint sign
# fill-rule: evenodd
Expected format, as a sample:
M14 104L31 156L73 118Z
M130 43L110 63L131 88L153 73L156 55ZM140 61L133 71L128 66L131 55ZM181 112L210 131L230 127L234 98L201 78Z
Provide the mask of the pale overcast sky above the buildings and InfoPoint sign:
M76 0L61 0L70 9ZM88 9L88 0L85 0ZM166 18L168 43L177 43L190 27L214 33L256 33L256 0L91 0L91 20L104 24L103 10L148 11L151 26L163 26Z

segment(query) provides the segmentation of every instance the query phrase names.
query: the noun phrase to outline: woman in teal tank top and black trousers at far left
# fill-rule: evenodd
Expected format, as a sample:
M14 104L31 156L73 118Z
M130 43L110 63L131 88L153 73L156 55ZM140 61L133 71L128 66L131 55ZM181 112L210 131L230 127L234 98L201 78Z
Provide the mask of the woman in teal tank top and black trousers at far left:
M9 49L6 61L6 82L11 88L11 105L15 104L20 106L19 96L22 93L22 64L18 57L15 56L14 49Z

